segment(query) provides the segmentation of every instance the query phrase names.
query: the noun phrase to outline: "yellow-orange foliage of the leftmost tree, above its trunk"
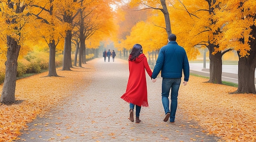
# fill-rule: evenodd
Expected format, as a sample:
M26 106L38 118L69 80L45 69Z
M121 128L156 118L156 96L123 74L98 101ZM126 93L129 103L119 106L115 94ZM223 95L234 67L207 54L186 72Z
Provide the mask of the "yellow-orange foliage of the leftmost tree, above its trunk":
M14 2L13 7L9 7L12 1L2 0L0 4L0 51L5 54L7 52L7 36L16 40L18 45L21 46L20 55L24 55L29 51L29 48L25 44L27 35L31 32L29 25L33 20L28 14L31 11L31 5L33 4L30 0L24 0L22 2ZM24 7L24 8L23 8ZM1 55L1 58L3 56Z

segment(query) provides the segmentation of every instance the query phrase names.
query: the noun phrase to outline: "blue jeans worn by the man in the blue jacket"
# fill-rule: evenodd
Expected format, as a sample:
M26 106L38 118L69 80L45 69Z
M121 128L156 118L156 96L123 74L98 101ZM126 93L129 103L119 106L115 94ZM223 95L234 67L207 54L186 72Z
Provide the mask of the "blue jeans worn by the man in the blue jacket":
M178 91L180 88L181 78L168 79L163 78L162 81L162 103L165 114L170 113L170 122L174 122L175 114L177 110ZM169 93L171 90L171 111L169 109Z

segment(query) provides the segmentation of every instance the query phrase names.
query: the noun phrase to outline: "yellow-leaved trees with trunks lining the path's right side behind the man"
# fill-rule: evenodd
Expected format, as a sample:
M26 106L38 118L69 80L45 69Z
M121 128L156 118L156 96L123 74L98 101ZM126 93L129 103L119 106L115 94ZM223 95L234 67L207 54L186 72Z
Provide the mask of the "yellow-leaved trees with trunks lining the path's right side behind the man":
M195 55L198 55L196 48L208 48L210 83L222 83L222 56L230 50L236 50L239 55L239 77L238 90L235 93L256 94L255 1L173 0L166 2L167 4L163 2L132 0L130 4L139 4L143 7L141 9L162 12L167 5L171 31L177 35L177 41L184 46L190 59L195 59ZM165 23L168 24L166 21Z

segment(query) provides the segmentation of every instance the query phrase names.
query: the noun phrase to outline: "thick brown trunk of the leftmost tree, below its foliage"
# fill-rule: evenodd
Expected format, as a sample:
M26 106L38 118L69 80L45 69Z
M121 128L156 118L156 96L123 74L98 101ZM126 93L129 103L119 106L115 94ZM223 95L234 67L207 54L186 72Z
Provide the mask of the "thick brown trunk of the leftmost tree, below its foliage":
M4 77L4 85L1 95L1 103L10 105L15 103L15 88L16 88L16 75L18 66L18 56L20 52L20 45L11 38L7 36L7 61Z

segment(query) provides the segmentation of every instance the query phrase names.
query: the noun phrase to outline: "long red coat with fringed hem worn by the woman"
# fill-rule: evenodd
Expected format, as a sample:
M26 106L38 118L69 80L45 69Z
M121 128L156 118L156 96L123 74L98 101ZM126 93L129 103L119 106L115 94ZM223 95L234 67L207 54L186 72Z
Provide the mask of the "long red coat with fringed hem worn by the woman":
M146 73L152 76L146 56L142 53L135 61L129 61L129 79L122 99L137 106L148 107Z

